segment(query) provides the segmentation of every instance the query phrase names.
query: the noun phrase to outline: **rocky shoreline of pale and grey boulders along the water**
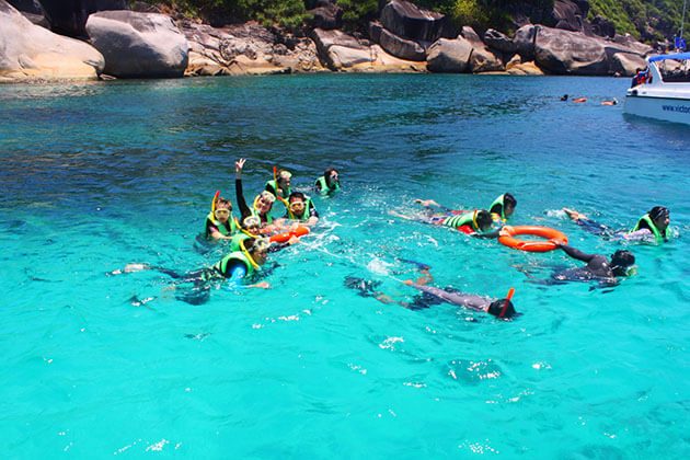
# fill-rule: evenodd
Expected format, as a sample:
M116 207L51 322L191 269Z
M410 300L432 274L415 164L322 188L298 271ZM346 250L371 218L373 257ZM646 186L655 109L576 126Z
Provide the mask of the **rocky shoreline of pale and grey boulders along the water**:
M253 22L212 27L148 4L129 10L124 0L77 1L71 12L58 3L0 0L1 82L326 71L631 76L653 51L603 21L584 21L585 0L556 0L556 27L526 21L511 37L457 31L405 0L386 2L367 36L341 30L333 0L318 2L303 36Z

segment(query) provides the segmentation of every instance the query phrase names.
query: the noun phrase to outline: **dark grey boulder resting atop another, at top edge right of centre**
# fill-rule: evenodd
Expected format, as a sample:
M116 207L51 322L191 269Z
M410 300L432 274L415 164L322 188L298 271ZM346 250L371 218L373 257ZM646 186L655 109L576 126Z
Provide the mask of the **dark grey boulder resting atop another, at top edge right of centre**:
M383 7L380 21L383 27L400 37L428 43L448 36L450 27L444 14L422 10L404 0L392 0Z

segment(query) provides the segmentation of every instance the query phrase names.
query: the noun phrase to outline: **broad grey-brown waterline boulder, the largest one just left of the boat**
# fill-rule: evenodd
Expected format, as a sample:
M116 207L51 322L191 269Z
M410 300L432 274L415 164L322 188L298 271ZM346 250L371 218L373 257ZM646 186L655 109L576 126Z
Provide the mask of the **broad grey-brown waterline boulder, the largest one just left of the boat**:
M539 28L534 61L551 73L602 76L609 73L605 42L560 28Z

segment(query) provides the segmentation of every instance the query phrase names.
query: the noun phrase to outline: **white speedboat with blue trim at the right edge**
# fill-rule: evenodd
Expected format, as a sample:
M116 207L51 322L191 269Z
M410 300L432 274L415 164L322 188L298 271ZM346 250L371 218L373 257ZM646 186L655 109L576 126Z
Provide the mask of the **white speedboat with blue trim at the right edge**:
M628 90L625 113L690 125L690 53L647 58L649 77Z

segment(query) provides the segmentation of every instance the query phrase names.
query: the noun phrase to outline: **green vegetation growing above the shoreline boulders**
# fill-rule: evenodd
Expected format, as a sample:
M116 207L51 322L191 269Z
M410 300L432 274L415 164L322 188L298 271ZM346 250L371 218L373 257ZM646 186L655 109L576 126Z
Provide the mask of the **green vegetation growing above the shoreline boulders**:
M172 7L186 15L216 22L255 20L264 25L298 28L309 18L315 0L146 0L147 3ZM134 3L134 1L133 1ZM379 0L337 0L346 30L367 30L376 19ZM471 25L482 33L486 28L513 32L517 16L533 23L553 25L554 0L416 0L421 8L447 14L458 26ZM589 0L588 19L601 15L611 21L620 34L629 33L646 42L671 38L680 28L682 0ZM688 24L686 18L686 24Z

